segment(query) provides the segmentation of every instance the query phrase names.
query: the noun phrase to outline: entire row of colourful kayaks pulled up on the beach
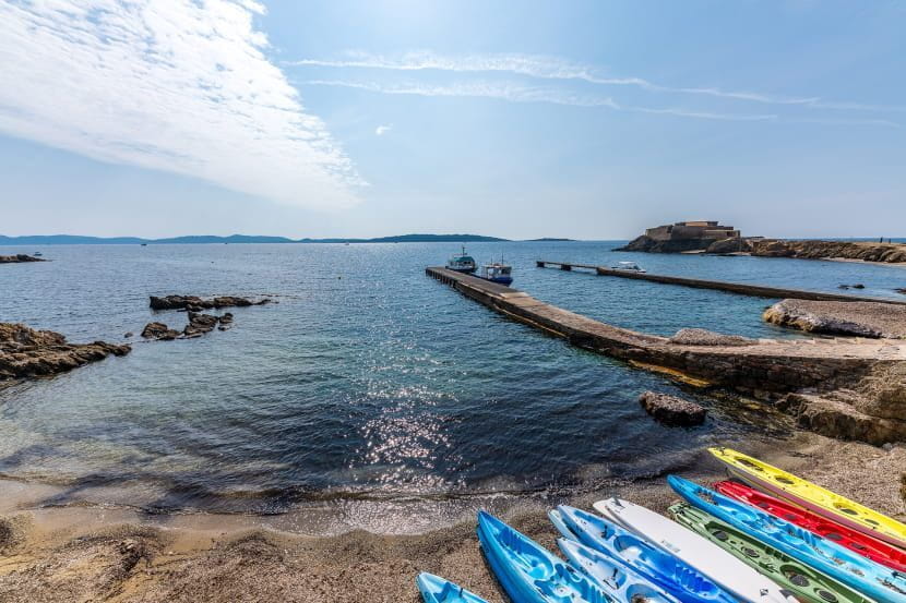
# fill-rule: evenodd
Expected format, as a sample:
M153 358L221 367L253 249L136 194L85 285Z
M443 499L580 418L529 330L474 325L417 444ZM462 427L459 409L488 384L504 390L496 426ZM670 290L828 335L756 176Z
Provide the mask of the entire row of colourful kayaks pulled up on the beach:
M616 497L595 503L596 512L560 505L548 517L562 555L479 511L488 567L514 603L906 602L906 526L741 453L711 453L752 485L718 482L711 490L669 475L681 497L669 508L672 520ZM780 502L773 491L756 490L761 473L789 480L798 495ZM723 494L741 489L762 498ZM837 508L821 503L827 496ZM823 508L815 515L822 529L778 512L785 504L801 512ZM860 516L883 529L863 522L861 544L841 543L837 536L850 531L849 508L863 509ZM420 574L416 583L426 603L486 603L432 574Z

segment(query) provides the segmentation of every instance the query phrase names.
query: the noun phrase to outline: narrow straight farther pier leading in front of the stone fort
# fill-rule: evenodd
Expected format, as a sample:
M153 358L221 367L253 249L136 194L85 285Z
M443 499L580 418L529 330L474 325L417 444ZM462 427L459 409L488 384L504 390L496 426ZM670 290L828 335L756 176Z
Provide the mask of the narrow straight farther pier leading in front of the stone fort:
M633 273L629 270L615 270L605 266L591 264L575 264L572 262L548 262L538 260L536 265L539 268L552 266L561 270L573 270L574 268L592 270L600 276L616 276L620 278L632 278L635 280L647 280L665 285L680 285L682 287L694 287L696 289L716 289L738 293L740 296L752 296L756 298L772 299L797 299L815 301L845 301L845 302L880 302L906 305L906 301L891 300L886 298L872 298L868 296L847 296L844 293L825 293L823 291L806 291L801 289L783 289L778 287L765 287L763 285L750 285L747 282L727 282L724 280L704 280L700 278L687 278L680 276L653 275L648 273Z

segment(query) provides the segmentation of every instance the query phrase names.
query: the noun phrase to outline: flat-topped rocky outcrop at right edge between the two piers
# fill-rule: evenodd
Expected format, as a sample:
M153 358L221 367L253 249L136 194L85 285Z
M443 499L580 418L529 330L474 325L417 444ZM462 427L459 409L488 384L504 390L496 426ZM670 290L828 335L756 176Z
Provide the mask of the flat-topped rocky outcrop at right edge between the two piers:
M906 306L881 302L783 300L762 317L809 333L856 337L906 337Z

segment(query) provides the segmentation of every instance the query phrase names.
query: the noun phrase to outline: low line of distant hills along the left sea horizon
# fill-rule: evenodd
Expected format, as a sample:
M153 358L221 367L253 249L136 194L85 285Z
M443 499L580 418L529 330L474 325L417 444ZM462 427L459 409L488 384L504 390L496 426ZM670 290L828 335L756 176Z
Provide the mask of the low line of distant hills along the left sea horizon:
M288 239L286 237L258 237L249 234L195 234L171 237L168 239L141 239L139 237L81 237L76 234L34 234L27 237L4 237L0 234L0 245L160 245L160 244L200 244L200 243L433 243L433 242L494 242L506 241L497 237L481 234L398 234L396 237L378 237L374 239Z

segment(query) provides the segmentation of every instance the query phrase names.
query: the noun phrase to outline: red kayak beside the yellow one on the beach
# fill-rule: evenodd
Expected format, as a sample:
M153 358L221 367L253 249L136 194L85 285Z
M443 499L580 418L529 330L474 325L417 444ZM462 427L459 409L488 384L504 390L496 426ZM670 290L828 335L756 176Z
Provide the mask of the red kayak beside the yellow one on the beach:
M841 526L810 510L774 498L739 482L717 482L714 484L714 489L724 496L736 498L800 528L804 528L874 563L901 572L906 572L906 551L902 551L880 540L874 540L846 526Z

